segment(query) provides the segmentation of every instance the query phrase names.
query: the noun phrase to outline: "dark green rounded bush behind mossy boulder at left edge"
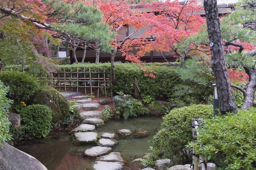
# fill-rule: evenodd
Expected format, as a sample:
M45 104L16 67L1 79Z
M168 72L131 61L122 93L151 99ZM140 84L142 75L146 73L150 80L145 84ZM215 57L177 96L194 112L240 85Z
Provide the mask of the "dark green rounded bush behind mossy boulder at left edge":
M40 89L40 85L34 77L24 72L1 71L0 80L10 88L7 97L17 101L27 101Z

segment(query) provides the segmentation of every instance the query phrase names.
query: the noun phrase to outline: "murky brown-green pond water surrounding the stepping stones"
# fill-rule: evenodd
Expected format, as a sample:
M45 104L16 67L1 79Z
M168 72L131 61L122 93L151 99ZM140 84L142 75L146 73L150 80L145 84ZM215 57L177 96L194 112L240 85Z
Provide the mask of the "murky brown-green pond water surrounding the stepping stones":
M150 135L147 137L118 139L118 144L113 147L113 151L120 152L128 162L131 162L148 153L148 149L152 145L149 141L152 140L153 135L160 129L161 122L163 122L161 117L113 120L108 121L103 127L97 128L96 131L116 132L119 129L130 129L134 132L135 129L150 130ZM84 170L94 161L90 157L84 157L83 152L87 148L96 146L96 144L75 146L70 139L70 134L65 131L58 131L51 135L53 136L51 138L26 142L15 147L34 156L48 170ZM142 168L138 163L132 163L131 166L134 169Z

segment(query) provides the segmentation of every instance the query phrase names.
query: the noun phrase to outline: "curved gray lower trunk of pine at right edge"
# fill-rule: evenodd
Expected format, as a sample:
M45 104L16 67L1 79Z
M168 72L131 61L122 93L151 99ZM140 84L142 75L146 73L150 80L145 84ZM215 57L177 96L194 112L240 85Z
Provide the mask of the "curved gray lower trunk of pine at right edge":
M256 73L253 68L244 67L244 70L249 75L249 82L245 87L246 95L244 96L244 104L241 109L247 109L253 106L256 87Z

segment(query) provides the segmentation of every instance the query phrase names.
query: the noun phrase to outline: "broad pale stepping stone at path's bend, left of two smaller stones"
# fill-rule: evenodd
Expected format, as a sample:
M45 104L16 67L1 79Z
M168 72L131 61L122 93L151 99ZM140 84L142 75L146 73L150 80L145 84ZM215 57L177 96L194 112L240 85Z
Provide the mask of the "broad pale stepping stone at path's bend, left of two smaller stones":
M95 132L78 132L73 134L76 142L80 144L97 143L98 139L101 137L99 133Z

